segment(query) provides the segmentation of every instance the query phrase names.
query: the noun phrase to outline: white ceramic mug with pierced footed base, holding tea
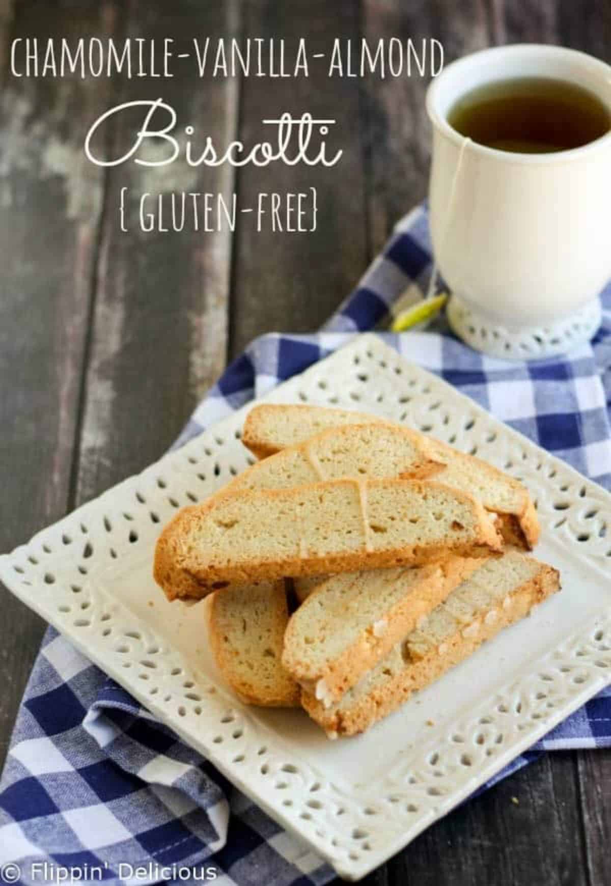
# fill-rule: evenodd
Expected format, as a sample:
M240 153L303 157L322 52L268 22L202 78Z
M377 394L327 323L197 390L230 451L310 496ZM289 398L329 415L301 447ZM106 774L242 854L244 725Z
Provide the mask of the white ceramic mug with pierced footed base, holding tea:
M522 356L567 350L571 342L564 339L555 347L537 347L535 328L543 324L549 332L560 324L573 330L574 343L580 338L578 318L589 316L591 327L592 316L599 317L597 297L611 277L611 132L569 151L522 154L465 142L447 121L452 105L471 89L542 76L589 89L611 112L611 67L583 52L536 44L461 58L445 68L427 95L437 267L461 316L468 315L457 321L455 308L452 325L462 325L457 331L463 338L491 353L500 353L495 329L503 340L528 330L525 340L534 336L534 352ZM465 323L472 331L477 327L474 335ZM591 335L588 323L582 325L581 338ZM509 350L507 355L516 355L506 346Z

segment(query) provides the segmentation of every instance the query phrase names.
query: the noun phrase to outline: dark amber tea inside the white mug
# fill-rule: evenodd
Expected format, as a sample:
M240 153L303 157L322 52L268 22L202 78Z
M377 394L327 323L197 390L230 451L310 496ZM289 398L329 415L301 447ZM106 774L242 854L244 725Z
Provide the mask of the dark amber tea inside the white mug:
M611 113L592 92L550 77L499 80L472 89L447 120L462 136L497 151L568 151L611 128Z

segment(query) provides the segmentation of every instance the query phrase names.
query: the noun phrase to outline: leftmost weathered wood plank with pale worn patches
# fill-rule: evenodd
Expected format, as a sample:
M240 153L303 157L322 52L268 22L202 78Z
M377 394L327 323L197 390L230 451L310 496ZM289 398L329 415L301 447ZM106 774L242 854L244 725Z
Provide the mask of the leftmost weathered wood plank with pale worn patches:
M110 33L112 4L16 5L12 35ZM0 12L6 58L10 4ZM102 176L82 154L83 120L102 113L107 83L7 79L0 120L0 549L68 506ZM0 761L43 623L0 591Z

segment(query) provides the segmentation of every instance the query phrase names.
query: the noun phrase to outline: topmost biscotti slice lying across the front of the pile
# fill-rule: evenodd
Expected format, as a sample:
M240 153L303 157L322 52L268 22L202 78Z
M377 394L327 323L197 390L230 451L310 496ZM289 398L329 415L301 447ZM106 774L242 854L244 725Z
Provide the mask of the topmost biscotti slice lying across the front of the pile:
M161 533L154 576L170 599L230 584L422 565L500 550L471 496L429 480L332 480L219 494Z

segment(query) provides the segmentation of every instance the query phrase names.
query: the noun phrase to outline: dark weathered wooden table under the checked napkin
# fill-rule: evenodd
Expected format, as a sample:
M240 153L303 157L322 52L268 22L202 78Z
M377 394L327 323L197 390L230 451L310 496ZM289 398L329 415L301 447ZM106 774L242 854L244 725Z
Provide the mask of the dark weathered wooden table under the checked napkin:
M611 60L609 0L0 0L0 549L158 458L228 359L269 330L313 330L351 290L400 214L425 194L429 130L420 78L251 77L198 83L16 79L19 36L434 36L446 60L489 43L565 43ZM177 49L178 51L178 49ZM161 85L159 85L161 83ZM163 95L223 143L258 140L284 110L336 118L336 169L164 167L155 187L259 191L315 185L308 234L142 233L116 214L143 167L102 169L84 133L120 101ZM129 144L126 125L109 136ZM150 181L150 179L149 179ZM178 185L180 187L180 185ZM131 223L133 222L133 224ZM4 589L0 756L44 626ZM611 755L547 754L447 816L367 886L602 886L611 882ZM516 802L517 800L517 802Z

